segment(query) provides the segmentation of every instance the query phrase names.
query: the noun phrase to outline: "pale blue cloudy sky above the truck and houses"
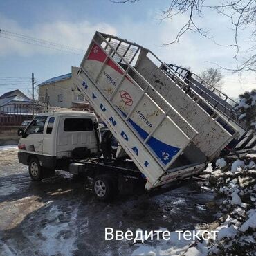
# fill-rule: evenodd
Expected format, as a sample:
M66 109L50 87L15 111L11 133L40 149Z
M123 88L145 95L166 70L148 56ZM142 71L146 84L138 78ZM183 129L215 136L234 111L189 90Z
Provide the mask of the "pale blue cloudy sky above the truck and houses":
M217 0L215 0L217 1ZM0 1L0 28L12 33L36 37L86 51L95 30L118 35L152 50L164 62L190 66L194 73L205 68L235 66L235 48L217 46L210 39L188 33L179 44L161 46L174 39L185 17L160 22L160 10L170 0L140 0L137 3L111 3L109 0L9 0ZM232 44L230 23L224 17L208 12L199 25L210 28L220 44ZM1 35L1 34L0 34ZM246 48L246 34L239 38ZM35 73L37 84L79 66L82 55L56 51L33 44L24 44L0 37L0 77L30 77ZM244 90L256 87L255 74L246 74L239 82L236 74L223 72L223 91L237 97ZM0 81L0 95L13 89L25 93L30 82L19 85Z

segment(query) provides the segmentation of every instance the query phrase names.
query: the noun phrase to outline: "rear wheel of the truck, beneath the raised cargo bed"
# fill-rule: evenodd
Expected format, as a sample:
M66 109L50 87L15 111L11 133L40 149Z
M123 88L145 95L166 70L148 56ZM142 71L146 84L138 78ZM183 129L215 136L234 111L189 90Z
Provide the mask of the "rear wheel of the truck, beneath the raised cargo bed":
M93 193L100 201L107 201L113 198L114 185L108 176L96 176L93 180Z

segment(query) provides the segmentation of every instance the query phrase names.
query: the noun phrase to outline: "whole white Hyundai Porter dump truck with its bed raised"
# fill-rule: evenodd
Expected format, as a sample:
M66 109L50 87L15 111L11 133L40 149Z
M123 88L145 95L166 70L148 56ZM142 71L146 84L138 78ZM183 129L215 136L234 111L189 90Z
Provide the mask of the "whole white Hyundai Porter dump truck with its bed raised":
M95 33L75 84L118 141L116 157L102 160L98 119L90 111L40 114L19 131L19 161L29 165L33 179L39 175L35 170L40 179L42 170L83 173L95 195L107 199L136 181L150 190L199 174L239 136L228 118L154 53L112 35ZM27 143L40 118L42 138ZM70 118L73 128L66 130ZM49 126L52 145L45 146ZM39 153L32 140L41 143ZM44 161L46 156L53 163Z

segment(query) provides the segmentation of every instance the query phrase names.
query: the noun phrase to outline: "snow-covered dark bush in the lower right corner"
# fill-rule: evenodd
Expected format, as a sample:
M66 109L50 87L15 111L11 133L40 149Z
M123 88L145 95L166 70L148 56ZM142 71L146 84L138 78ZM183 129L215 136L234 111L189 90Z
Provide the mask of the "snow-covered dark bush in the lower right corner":
M208 245L208 255L255 255L256 169L251 158L227 163L228 172L212 172L211 184L223 197L217 241Z

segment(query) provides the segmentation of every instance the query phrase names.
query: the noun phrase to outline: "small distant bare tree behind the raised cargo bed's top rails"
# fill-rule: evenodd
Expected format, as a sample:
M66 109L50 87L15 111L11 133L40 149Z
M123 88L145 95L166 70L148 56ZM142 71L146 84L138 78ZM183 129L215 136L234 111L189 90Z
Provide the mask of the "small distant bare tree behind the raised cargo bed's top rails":
M201 78L205 80L208 84L204 84L206 88L212 89L210 85L212 85L214 88L221 91L223 86L223 75L221 72L216 68L208 68L205 71L201 73Z

